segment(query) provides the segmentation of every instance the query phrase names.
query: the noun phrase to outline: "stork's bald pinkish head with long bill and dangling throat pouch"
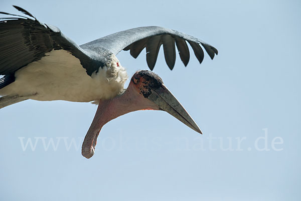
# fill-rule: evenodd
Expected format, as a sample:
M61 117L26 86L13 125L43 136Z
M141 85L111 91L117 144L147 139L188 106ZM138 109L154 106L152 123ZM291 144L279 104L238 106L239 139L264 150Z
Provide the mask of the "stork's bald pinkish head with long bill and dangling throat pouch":
M161 77L152 71L140 70L134 73L127 89L122 94L112 99L100 100L82 145L82 155L86 158L93 156L96 140L103 125L121 115L138 110L168 112L202 134L195 121L164 85Z

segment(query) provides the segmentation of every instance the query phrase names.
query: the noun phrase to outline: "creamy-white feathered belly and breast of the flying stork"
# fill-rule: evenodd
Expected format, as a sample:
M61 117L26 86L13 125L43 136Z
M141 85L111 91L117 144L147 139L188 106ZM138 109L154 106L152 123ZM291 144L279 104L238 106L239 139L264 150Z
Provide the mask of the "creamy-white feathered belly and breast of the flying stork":
M90 76L78 58L65 50L52 50L40 60L17 70L15 77L13 83L0 89L0 95L18 94L34 100L97 102L120 94L127 74L113 54Z

